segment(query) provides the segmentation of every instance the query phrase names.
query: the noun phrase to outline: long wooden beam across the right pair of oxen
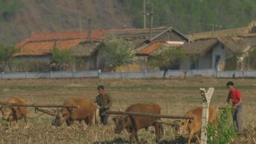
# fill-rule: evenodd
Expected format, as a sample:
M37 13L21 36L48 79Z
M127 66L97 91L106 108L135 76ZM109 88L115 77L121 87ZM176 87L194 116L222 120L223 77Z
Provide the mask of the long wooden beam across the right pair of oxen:
M133 116L143 116L148 118L173 118L173 119L189 119L193 120L193 116L173 116L173 115L158 115L151 113L134 113L134 112L126 112L126 111L106 111L109 115L133 115Z

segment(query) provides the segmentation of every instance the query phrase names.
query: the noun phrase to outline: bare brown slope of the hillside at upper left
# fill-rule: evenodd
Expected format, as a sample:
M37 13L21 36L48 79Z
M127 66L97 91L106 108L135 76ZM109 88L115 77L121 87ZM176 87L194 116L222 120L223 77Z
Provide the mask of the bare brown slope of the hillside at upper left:
M19 42L36 31L78 31L79 8L83 30L88 18L93 29L123 28L125 22L131 27L116 0L0 0L0 44Z

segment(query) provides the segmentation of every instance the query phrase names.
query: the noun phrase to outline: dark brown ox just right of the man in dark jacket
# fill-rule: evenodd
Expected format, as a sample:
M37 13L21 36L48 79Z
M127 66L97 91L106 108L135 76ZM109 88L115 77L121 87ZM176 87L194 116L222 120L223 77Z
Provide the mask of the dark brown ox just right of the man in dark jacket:
M136 112L136 113L150 113L150 114L160 114L161 107L156 103L138 103L132 104L125 111ZM135 140L138 142L138 130L147 129L150 126L155 127L156 140L161 139L161 132L163 132L163 127L157 122L159 118L147 118L142 116L119 116L118 118L113 118L115 122L115 133L120 134L124 129L131 133L130 143ZM161 130L161 131L160 131Z

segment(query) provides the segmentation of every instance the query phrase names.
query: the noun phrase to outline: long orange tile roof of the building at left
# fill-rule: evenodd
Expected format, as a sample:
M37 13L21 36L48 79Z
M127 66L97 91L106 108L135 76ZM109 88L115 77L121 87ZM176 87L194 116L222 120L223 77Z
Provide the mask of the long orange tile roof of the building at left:
M145 29L107 29L107 30L92 30L92 40L99 40L103 36L111 32L122 31L145 31ZM87 40L87 31L61 31L51 33L34 33L25 40L22 40L15 45L15 48L20 49L20 52L14 56L38 56L52 52L54 45L61 50L68 50L72 47Z

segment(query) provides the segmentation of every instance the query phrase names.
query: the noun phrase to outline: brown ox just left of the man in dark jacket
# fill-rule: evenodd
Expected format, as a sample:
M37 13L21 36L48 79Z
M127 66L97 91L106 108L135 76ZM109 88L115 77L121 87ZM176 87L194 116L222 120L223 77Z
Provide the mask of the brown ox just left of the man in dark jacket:
M87 125L92 125L96 120L96 106L88 99L83 98L71 98L67 99L64 106L79 106L79 108L62 108L57 112L55 120L52 125L61 126L63 123L67 123L68 126L74 124L75 120L84 122Z

